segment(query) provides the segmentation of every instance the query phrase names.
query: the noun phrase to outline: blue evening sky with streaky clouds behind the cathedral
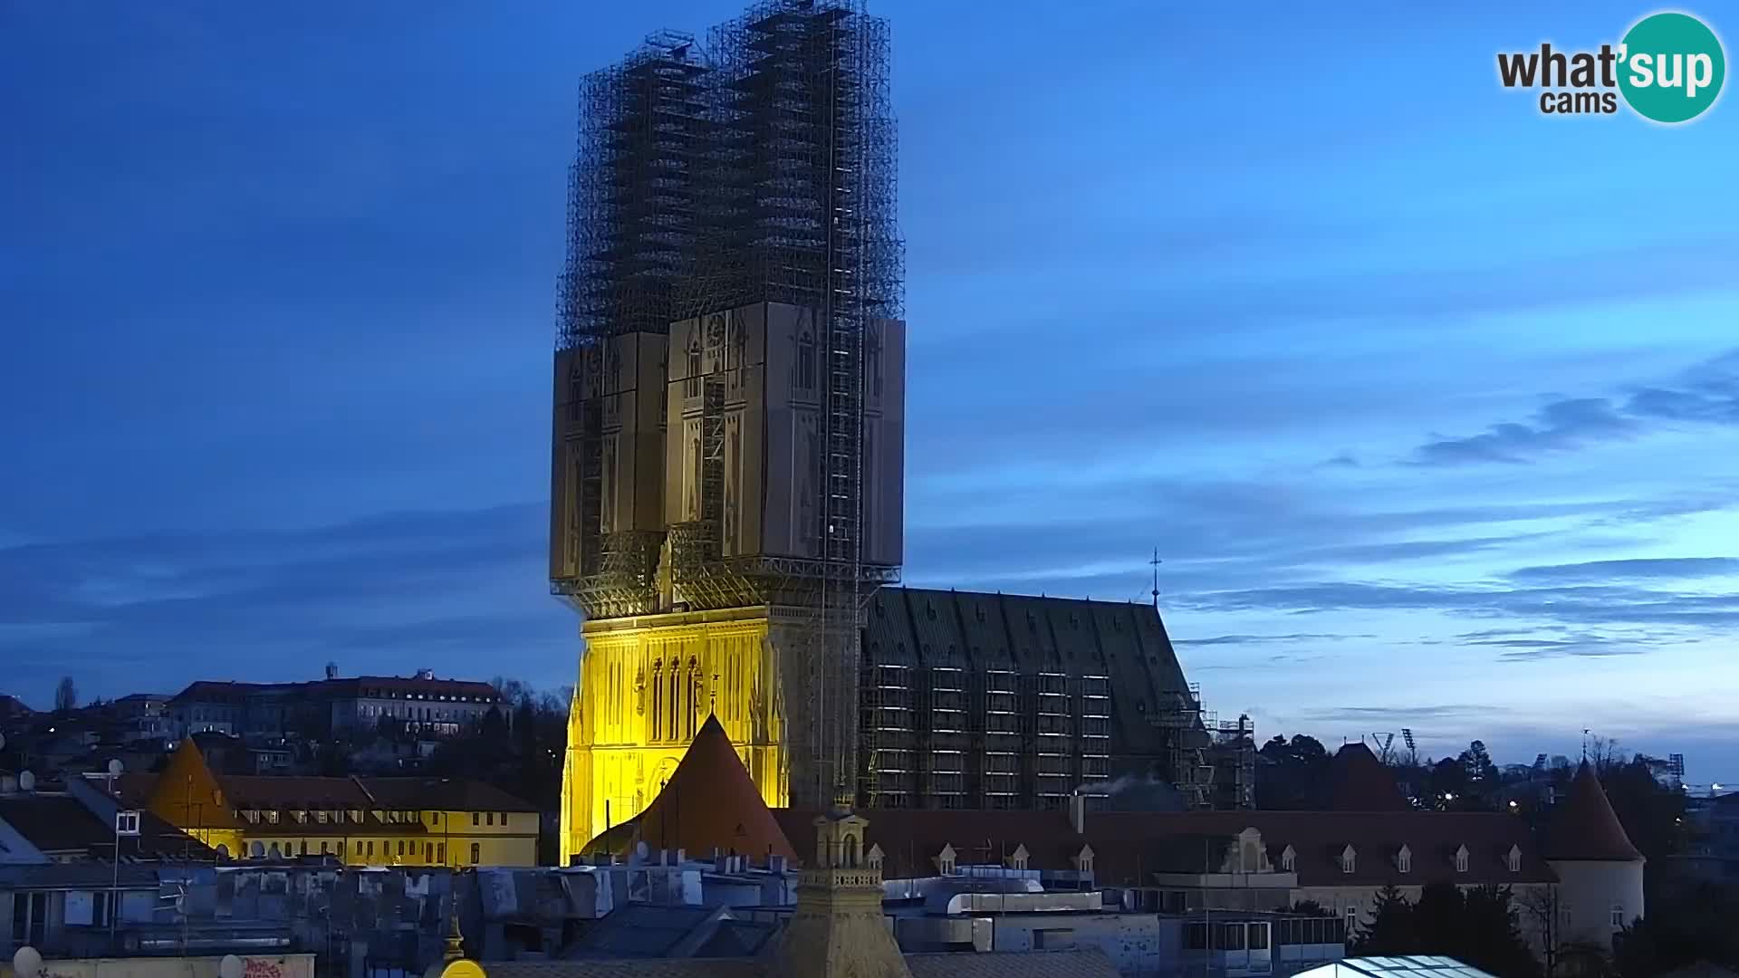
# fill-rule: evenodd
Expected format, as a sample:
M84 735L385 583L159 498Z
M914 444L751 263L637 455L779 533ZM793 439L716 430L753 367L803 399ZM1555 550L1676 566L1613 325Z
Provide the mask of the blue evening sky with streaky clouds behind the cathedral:
M875 12L909 583L1144 600L1156 546L1264 738L1739 778L1739 104L1548 118L1494 66L1645 7ZM576 84L734 14L0 2L0 684L572 682Z

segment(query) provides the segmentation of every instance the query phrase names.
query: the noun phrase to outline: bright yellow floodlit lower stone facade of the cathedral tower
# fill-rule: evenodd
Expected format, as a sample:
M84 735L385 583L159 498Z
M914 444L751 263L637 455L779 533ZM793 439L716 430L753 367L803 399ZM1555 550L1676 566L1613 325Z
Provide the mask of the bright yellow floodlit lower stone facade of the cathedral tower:
M716 715L762 800L790 797L779 611L737 607L588 621L569 710L562 861L642 811Z

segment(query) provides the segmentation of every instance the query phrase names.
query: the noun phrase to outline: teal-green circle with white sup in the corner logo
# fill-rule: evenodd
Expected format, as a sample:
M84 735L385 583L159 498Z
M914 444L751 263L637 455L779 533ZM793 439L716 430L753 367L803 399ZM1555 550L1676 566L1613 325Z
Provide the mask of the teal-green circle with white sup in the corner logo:
M1690 14L1650 14L1619 45L1619 90L1636 115L1654 122L1702 115L1725 80L1722 40Z

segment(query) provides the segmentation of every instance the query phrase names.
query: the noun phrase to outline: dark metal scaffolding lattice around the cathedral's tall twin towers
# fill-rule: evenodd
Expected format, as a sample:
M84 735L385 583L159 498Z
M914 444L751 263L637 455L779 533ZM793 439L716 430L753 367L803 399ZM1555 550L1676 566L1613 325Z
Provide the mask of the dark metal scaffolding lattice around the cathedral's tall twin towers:
M558 348L668 334L685 318L710 329L730 310L781 303L814 324L824 383L807 557L723 555L723 379L708 378L701 512L657 541L609 538L605 435L590 418L569 423L576 498L563 533L584 559L553 588L588 614L642 611L656 600L647 555L668 546L682 606L791 609L770 640L788 670L793 804L873 790L857 771L861 616L899 571L864 562L864 374L876 324L901 317L894 186L889 26L859 0L767 0L704 47L659 31L581 85Z

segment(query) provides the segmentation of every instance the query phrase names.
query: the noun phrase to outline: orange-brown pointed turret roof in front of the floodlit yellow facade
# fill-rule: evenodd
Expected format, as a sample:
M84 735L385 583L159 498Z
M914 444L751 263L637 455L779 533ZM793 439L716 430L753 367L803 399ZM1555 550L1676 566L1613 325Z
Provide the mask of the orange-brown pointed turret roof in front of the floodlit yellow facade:
M652 849L796 858L718 717L706 717L676 771L636 823L640 841Z

